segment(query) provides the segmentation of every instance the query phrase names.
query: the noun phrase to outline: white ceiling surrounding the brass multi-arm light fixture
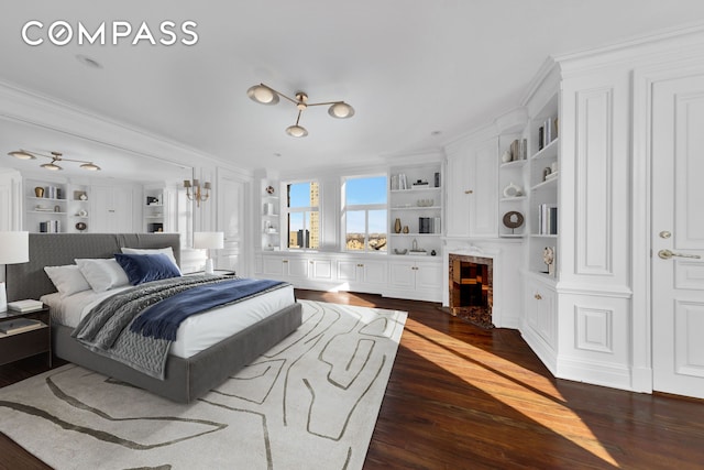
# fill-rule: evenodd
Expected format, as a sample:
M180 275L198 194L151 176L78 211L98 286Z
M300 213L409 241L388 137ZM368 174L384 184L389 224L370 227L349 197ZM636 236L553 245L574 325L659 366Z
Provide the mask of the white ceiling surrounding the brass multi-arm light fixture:
M3 8L0 80L242 168L285 173L437 149L517 106L551 54L702 19L702 0L33 0ZM199 40L32 47L20 35L29 20L89 30L146 21L157 40L162 21L191 20ZM293 139L284 133L293 105L248 99L260 81L289 96L304 90L310 101L345 100L356 113L337 120L309 108L301 118L309 135ZM45 131L30 131L42 134L34 150L81 157L58 149L68 144L61 136L53 144ZM0 133L3 154L22 146L13 135Z

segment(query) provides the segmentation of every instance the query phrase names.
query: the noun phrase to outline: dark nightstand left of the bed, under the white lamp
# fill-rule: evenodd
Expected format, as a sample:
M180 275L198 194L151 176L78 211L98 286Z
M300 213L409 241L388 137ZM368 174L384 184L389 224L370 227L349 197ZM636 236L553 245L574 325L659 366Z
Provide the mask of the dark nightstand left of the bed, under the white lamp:
M48 367L52 367L52 320L50 309L45 305L33 311L8 310L0 314L0 321L15 318L40 320L45 327L13 335L0 334L0 365L19 361L31 356L46 353Z

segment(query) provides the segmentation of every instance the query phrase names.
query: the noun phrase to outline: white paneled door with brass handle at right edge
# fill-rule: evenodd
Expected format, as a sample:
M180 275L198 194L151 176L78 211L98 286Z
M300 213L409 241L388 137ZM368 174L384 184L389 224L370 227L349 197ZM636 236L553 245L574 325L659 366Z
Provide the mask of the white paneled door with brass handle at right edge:
M704 398L704 75L654 83L651 131L653 390Z

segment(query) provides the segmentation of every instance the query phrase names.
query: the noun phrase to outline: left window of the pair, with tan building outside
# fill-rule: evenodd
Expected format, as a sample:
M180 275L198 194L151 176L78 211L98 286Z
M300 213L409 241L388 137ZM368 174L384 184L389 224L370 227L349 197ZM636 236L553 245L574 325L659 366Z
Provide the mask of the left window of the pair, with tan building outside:
M320 189L317 182L292 183L286 187L288 197L288 248L320 245Z

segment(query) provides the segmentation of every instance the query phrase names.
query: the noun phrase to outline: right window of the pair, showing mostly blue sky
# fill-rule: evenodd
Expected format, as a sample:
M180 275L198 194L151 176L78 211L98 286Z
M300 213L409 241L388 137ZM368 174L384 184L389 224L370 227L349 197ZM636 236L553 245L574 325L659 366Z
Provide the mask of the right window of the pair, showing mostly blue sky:
M345 250L386 252L386 176L348 177L342 184Z

